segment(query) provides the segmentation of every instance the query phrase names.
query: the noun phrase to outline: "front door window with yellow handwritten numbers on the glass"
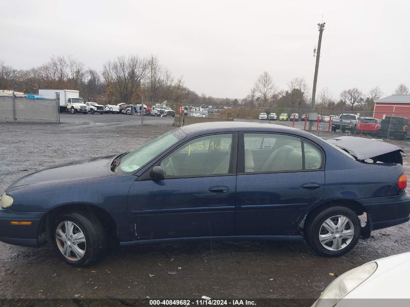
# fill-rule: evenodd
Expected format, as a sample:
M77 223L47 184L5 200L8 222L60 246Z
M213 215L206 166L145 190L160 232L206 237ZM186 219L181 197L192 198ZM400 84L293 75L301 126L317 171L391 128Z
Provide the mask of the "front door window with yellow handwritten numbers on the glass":
M232 134L214 134L189 141L160 165L165 178L229 173Z

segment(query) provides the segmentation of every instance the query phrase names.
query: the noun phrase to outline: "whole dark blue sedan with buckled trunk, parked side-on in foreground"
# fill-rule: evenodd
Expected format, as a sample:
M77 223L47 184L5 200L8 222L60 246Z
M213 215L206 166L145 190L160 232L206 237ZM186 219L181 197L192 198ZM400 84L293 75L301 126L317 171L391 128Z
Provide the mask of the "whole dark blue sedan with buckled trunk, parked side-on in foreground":
M75 266L93 263L113 241L304 237L318 254L340 256L360 236L410 219L399 150L369 161L340 147L278 125L184 126L129 153L15 181L0 199L0 241L52 241Z

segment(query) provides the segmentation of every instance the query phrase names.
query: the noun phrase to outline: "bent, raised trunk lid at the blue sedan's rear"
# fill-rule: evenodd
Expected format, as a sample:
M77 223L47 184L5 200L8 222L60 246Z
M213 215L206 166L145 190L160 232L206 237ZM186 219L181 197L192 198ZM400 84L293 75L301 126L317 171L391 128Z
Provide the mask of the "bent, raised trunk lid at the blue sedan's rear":
M354 136L341 136L327 142L347 150L357 160L371 159L373 162L403 164L401 153L404 151L390 143Z

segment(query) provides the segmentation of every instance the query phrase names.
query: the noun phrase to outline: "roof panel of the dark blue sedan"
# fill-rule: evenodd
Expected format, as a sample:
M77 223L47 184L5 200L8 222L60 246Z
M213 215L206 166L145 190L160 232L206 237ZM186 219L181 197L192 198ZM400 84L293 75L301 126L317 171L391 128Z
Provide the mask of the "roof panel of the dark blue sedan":
M283 125L258 123L258 122L211 122L198 123L180 127L186 134L204 132L228 132L228 131L267 131L267 132L291 132L293 134L306 133L303 130ZM306 133L309 134L309 133Z

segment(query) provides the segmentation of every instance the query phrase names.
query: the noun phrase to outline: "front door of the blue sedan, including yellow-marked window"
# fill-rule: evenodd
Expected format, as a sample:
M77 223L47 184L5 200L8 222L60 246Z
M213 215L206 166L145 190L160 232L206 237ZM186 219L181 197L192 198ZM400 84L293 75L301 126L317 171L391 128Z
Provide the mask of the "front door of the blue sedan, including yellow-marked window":
M234 235L237 134L190 140L162 161L164 180L147 173L128 196L135 240Z

